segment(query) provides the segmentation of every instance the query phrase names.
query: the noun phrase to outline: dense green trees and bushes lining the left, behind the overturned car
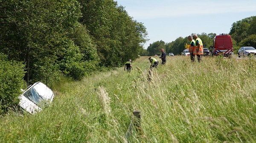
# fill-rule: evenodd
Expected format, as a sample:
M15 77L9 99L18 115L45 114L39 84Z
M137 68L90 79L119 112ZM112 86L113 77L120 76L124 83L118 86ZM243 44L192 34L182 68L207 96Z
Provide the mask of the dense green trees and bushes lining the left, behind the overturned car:
M143 23L113 0L0 0L0 113L26 85L122 66L146 41Z

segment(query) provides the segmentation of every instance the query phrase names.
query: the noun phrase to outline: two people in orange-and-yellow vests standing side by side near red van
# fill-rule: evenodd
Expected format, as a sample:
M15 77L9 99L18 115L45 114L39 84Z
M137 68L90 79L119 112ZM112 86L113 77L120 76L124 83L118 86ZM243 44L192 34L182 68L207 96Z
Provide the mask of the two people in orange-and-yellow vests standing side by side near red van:
M198 38L197 34L194 34L193 36L189 35L188 39L190 41L189 53L191 62L195 62L195 55L197 56L198 62L201 62L204 53L202 40Z

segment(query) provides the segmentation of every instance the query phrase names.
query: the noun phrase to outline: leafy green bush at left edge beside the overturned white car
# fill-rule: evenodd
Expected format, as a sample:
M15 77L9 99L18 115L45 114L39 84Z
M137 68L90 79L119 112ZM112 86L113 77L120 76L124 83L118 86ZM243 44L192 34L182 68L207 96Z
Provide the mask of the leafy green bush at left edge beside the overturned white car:
M9 107L19 103L18 96L22 87L25 65L20 62L8 61L6 55L0 53L0 114L6 113Z

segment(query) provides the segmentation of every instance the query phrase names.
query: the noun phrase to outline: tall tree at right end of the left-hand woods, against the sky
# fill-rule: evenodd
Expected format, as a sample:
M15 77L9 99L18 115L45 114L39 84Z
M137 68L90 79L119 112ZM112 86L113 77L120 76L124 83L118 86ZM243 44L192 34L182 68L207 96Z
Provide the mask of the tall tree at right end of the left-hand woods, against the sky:
M82 18L97 45L100 66L122 66L143 50L146 30L113 0L80 0Z

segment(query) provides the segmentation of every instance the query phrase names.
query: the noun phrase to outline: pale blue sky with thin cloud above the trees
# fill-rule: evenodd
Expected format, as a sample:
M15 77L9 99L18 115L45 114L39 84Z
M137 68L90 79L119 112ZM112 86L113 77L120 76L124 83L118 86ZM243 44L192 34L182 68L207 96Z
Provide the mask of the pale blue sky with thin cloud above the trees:
M233 22L256 16L256 0L115 0L129 16L144 23L148 42L175 41L192 33L230 32Z

